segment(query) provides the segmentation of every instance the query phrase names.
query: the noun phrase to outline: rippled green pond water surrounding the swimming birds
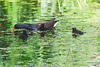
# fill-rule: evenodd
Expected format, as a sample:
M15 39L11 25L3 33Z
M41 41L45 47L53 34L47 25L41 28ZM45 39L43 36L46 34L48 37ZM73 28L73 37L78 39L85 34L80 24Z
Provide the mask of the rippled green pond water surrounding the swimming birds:
M91 8L86 12L77 8L59 12L56 2L1 0L0 67L99 66L98 60L93 61L100 55L99 12L99 9L92 12ZM44 37L39 31L26 30L30 35L23 41L19 38L23 29L16 29L15 33L11 29L18 23L42 23L52 18L59 20L55 34L47 32ZM72 27L86 33L73 38Z

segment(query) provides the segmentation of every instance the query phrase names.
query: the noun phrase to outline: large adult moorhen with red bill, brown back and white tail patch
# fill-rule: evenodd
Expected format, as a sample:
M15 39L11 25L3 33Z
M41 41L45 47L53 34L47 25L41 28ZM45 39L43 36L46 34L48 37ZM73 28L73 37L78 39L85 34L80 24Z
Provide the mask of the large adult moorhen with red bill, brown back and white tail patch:
M44 26L46 28L53 28L57 25L59 20L55 21L55 18L53 18L52 20L48 21L48 22L44 22ZM12 27L13 31L14 29L28 29L28 30L38 30L38 28L40 27L42 23L35 23L35 24L28 24L28 23L24 23L24 24L15 24L14 27Z

